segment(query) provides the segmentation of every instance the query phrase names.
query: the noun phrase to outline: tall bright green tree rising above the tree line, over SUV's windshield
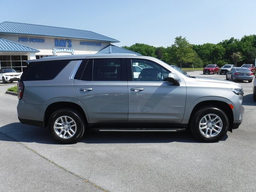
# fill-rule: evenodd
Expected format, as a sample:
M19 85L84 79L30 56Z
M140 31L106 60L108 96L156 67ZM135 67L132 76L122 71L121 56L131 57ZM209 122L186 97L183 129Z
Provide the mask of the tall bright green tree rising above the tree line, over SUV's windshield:
M176 63L182 68L182 64L192 63L195 59L196 52L192 49L192 45L182 38L182 36L176 37L174 44L167 48L170 63Z

